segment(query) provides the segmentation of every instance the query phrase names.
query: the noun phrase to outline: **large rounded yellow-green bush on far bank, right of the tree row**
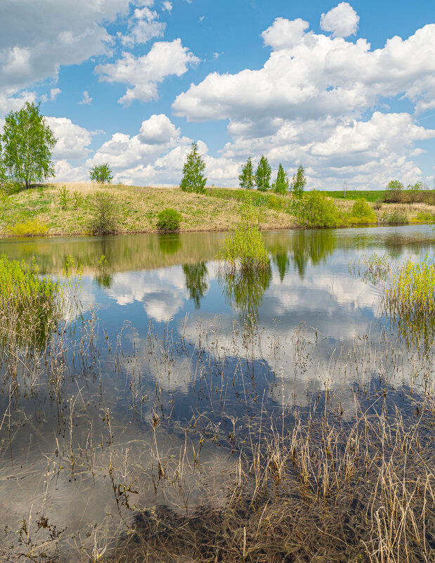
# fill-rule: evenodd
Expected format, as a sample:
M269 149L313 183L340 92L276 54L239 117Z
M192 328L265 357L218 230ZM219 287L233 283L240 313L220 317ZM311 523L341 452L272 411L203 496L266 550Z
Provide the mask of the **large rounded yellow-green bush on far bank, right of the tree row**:
M342 223L337 205L318 190L296 200L293 213L297 224L305 228L330 228Z

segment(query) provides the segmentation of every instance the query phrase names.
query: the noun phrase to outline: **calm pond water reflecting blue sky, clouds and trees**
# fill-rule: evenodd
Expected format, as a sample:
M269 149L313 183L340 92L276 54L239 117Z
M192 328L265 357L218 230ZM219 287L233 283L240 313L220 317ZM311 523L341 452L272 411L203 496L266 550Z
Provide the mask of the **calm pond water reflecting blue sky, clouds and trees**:
M266 455L264 421L267 455L278 434L281 452L293 436L290 455L294 444L301 448L295 432L313 425L316 413L324 444L327 416L349 439L356 411L384 416L398 408L406 421L421 408L431 390L431 345L421 350L403 339L379 304L379 280L364 276L361 264L373 252L393 263L432 255L429 226L265 232L270 268L237 283L214 261L224 236L0 241L0 254L28 263L34 257L55 278L69 256L82 266L74 316L41 349L9 348L2 359L0 557L229 561L230 548L207 559L211 548L203 552L199 539L193 548L178 532L172 551L162 543L171 530L191 528L204 507L212 520L221 517L239 495L245 512L232 557L275 560L264 545L251 555L246 547L255 535L249 511L272 505L257 497L269 487L259 484L254 462L260 451ZM422 442L430 436L426 428ZM349 457L337 444L337 456ZM291 479L314 486L295 459ZM257 503L249 508L240 492L248 481ZM430 535L433 522L425 525ZM287 560L283 549L279 560Z

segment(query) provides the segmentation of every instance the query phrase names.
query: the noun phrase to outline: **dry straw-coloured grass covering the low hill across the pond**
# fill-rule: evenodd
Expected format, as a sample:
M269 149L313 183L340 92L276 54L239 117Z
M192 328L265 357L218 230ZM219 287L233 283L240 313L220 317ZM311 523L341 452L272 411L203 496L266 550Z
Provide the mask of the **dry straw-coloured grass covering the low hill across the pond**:
M60 199L62 186L68 195L65 209ZM9 196L0 216L0 233L8 235L13 224L37 216L48 226L48 235L84 234L91 216L91 199L101 190L110 192L119 207L119 233L155 232L157 214L165 207L181 213L181 231L230 231L238 221L240 203L235 200L183 193L179 188L63 183ZM273 209L263 210L262 221L264 228L295 226L292 216Z

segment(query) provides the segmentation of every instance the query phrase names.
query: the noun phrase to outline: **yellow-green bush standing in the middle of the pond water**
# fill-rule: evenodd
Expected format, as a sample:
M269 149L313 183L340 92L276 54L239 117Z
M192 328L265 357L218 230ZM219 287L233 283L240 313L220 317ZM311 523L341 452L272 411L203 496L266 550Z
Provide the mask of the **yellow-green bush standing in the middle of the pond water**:
M223 241L216 258L231 270L265 268L268 253L259 229L259 211L248 201L240 207L240 219L233 235Z

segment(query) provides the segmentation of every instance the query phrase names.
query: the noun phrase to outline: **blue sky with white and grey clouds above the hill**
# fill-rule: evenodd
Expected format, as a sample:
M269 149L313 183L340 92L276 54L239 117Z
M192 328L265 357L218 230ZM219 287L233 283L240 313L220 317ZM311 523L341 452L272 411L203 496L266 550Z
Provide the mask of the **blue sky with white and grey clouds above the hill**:
M262 153L312 188L432 186L433 22L422 0L4 0L0 125L40 101L58 181L175 185L198 141L216 186Z

